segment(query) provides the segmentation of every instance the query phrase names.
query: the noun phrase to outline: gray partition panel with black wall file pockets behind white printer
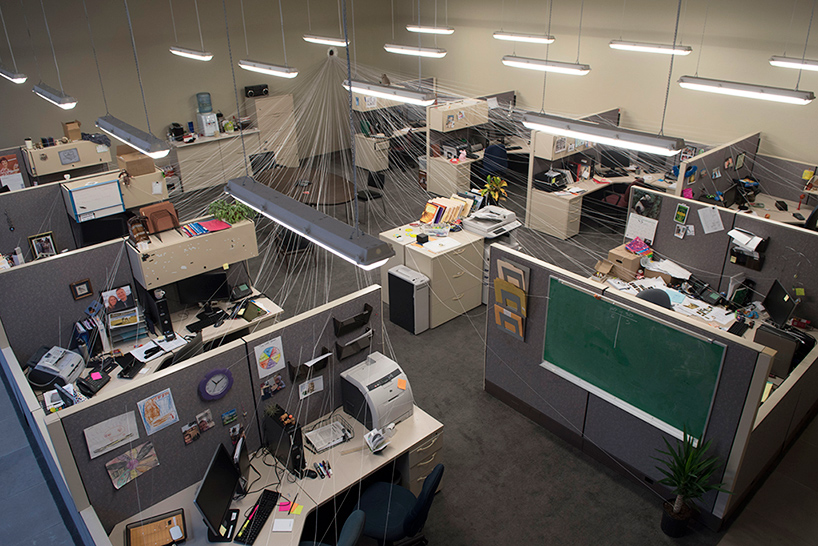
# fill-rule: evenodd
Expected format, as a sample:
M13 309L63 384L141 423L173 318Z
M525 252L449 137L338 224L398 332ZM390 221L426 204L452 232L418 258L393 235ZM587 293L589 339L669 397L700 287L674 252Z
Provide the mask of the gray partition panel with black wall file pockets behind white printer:
M303 425L333 411L342 404L340 373L363 362L369 353L382 351L383 326L380 290L380 286L370 286L359 290L355 294L334 300L297 317L244 337L252 369L253 394L257 399L259 416L263 415L263 411L267 406L278 404L288 413L291 413L298 423ZM369 321L341 337L336 337L333 319L343 321L359 315L364 311L366 305L372 308ZM360 352L339 360L336 353L336 343L346 345L364 334L367 328L372 330L371 344ZM287 365L280 372L260 377L256 360L256 347L263 346L278 337L281 338L281 349ZM299 387L306 380L293 382L290 368L295 368L321 356L324 348L331 351L332 356L329 357L325 368L317 370L309 376L310 379L321 378L323 390L301 399ZM286 388L275 392L267 399L261 399L261 384L273 380L277 374L281 375ZM409 379L411 381L411 378ZM270 383L272 384L273 381L270 381Z

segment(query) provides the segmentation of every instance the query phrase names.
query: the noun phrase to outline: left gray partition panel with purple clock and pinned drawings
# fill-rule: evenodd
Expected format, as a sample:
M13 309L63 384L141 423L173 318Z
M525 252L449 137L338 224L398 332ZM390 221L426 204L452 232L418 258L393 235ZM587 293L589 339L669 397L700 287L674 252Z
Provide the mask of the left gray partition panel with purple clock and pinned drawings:
M198 393L199 382L205 374L216 369L228 369L233 387L219 400L205 401ZM253 395L248 373L247 353L241 340L208 351L163 372L138 376L132 387L120 387L106 393L105 389L83 404L56 414L73 454L76 468L88 501L99 517L106 532L125 518L145 509L202 479L207 465L219 443L232 451L230 427L245 426L247 445L251 452L260 446L254 426ZM178 421L148 435L137 404L170 389ZM196 440L185 445L182 427L200 421L203 412L210 411L213 427L199 433ZM235 410L237 420L222 424L222 414ZM131 438L121 447L91 458L84 430L107 419L134 412L138 438ZM52 435L54 425L49 426ZM106 463L142 446L153 445L159 465L115 489L108 475ZM258 463L256 463L258 464ZM253 479L254 476L250 476ZM198 518L199 514L186 514Z

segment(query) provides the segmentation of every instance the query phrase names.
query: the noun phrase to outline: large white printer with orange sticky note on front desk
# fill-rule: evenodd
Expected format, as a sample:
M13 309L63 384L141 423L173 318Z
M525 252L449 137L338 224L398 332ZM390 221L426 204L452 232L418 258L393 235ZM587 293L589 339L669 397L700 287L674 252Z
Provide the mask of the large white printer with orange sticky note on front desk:
M341 372L344 411L367 430L381 429L412 416L414 398L406 374L394 360L379 352Z

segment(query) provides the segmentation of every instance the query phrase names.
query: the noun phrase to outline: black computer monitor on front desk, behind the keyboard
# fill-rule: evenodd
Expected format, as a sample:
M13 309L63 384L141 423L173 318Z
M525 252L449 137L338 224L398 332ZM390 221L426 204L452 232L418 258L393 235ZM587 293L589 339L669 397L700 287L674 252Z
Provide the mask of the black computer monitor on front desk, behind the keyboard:
M226 542L224 539L229 541L233 537L238 518L230 521L233 512L230 510L230 503L240 478L238 467L233 464L232 457L220 443L193 497L193 504L207 525L207 538L210 542ZM225 534L219 532L222 526L226 529Z

